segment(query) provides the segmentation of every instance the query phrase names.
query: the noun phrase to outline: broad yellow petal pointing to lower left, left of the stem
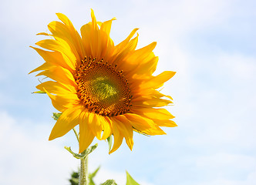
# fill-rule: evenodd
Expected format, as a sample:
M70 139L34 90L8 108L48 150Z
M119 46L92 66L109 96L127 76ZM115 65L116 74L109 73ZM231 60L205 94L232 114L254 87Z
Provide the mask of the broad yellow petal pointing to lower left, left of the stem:
M49 140L54 140L57 137L64 136L69 130L72 130L76 125L79 124L79 115L83 111L83 106L75 106L66 109L59 119L57 120L55 126L52 128L52 132L49 136Z

